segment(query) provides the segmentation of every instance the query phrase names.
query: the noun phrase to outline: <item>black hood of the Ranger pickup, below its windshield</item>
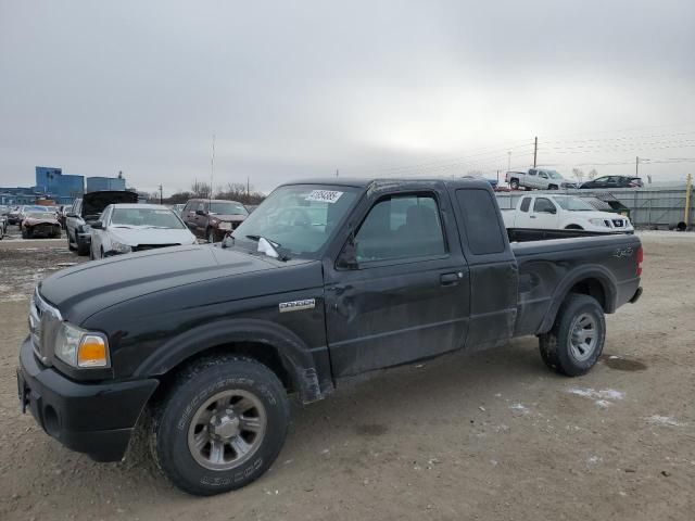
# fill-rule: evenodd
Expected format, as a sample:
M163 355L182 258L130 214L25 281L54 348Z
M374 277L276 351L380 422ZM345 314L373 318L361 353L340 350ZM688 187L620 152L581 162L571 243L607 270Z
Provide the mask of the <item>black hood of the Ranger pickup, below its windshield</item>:
M39 284L39 293L64 319L80 325L91 315L130 300L187 287L187 298L157 298L161 309L213 304L212 293L224 287L225 298L270 293L277 284L269 272L285 271L307 260L282 263L262 255L207 244L175 246L89 262L61 270ZM317 264L320 280L320 263ZM267 283L239 284L254 274ZM283 277L287 279L288 277ZM291 278L291 277L290 277ZM296 281L295 283L301 283ZM243 288L244 294L238 290ZM179 296L182 294L178 291Z

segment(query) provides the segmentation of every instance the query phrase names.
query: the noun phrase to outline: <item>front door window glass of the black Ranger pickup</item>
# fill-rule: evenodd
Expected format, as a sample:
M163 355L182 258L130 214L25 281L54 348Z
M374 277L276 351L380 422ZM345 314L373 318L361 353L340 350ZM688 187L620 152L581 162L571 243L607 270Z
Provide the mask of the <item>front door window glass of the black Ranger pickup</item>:
M439 207L429 194L378 201L362 223L355 242L359 263L446 253Z

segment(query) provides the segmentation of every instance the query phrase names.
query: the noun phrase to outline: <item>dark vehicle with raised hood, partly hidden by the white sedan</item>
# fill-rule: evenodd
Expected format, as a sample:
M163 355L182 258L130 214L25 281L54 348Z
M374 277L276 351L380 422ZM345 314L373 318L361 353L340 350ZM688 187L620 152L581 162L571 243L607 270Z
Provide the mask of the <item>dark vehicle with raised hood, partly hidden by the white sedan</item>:
M104 190L86 193L76 199L65 214L65 234L67 247L77 250L78 255L89 255L91 244L90 224L99 220L99 216L110 204L137 203L138 194L124 190Z

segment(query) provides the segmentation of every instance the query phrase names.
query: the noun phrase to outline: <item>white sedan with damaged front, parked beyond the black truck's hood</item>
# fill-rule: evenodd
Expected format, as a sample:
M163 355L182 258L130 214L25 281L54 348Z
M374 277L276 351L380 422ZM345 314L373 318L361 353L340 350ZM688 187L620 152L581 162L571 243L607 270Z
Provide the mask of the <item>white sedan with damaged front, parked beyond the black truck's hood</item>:
M91 225L91 258L197 244L176 212L159 204L110 204Z

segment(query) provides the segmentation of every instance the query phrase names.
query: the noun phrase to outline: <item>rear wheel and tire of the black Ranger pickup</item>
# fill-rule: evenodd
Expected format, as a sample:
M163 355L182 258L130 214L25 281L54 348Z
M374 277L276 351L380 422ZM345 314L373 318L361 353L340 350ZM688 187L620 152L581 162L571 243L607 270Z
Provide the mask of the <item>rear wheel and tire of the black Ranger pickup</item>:
M543 361L567 377L586 374L598 360L606 340L604 310L589 295L571 294L549 332L539 336Z

